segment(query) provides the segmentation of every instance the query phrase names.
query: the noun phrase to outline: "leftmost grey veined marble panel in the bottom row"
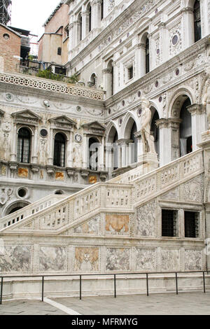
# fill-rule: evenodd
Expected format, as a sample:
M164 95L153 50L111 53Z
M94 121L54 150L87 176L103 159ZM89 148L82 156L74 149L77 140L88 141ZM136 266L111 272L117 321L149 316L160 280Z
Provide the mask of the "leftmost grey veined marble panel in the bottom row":
M4 246L0 272L30 272L31 250L31 246Z

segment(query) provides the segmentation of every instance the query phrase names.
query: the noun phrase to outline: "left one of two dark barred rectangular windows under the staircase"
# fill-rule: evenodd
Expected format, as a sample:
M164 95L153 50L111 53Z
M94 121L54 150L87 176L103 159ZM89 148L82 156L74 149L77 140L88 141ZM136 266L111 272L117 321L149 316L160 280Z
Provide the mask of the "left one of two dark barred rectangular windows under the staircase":
M162 209L162 237L176 237L177 211Z

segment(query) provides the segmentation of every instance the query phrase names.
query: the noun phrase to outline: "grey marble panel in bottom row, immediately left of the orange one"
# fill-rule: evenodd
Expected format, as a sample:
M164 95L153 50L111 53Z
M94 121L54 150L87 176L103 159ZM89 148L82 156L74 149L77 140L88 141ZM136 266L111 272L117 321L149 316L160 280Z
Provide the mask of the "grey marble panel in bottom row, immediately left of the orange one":
M41 272L66 270L66 247L41 246L39 253Z

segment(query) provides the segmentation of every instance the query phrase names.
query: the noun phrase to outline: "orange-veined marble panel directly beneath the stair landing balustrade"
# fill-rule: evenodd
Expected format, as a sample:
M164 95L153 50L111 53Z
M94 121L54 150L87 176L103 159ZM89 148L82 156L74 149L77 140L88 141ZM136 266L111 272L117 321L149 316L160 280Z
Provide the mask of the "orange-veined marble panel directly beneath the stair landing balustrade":
M106 214L106 234L126 234L129 232L129 224L129 215Z

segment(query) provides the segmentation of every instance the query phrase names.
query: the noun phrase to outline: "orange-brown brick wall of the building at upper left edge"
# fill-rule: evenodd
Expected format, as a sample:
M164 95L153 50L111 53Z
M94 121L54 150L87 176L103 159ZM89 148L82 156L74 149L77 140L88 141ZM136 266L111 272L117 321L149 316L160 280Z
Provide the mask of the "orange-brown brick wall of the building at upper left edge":
M8 35L8 38L3 35ZM0 25L1 69L5 72L19 72L21 38L6 27Z

